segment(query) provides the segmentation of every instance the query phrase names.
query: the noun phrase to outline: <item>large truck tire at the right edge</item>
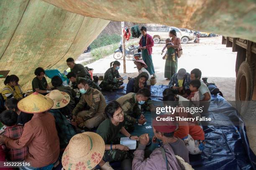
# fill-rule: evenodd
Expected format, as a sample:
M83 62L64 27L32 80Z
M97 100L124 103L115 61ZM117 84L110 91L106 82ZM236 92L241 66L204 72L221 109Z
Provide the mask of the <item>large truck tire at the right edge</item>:
M241 63L236 76L236 101L250 101L253 94L254 63Z

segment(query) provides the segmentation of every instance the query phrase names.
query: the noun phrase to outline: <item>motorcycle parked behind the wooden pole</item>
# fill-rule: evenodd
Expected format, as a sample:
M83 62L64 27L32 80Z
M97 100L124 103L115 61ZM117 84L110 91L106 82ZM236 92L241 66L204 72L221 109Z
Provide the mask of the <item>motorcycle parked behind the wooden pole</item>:
M139 49L139 45L131 45L130 47L128 47L128 49L125 49L125 57L127 58L133 58L134 60L134 54L138 53L138 49ZM120 44L120 46L118 47L117 50L115 50L113 57L115 58L115 60L119 60L123 57L123 45Z

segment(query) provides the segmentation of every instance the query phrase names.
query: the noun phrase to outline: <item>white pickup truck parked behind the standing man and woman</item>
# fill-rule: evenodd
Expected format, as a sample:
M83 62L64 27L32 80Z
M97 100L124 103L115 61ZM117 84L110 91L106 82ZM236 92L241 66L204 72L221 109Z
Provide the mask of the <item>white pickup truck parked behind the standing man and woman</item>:
M177 37L181 39L182 44L186 44L187 42L195 39L195 35L193 35L193 33L183 32L176 27L147 27L147 33L153 37L155 44L159 44L160 41L165 41L166 38L169 38L170 30L176 31Z

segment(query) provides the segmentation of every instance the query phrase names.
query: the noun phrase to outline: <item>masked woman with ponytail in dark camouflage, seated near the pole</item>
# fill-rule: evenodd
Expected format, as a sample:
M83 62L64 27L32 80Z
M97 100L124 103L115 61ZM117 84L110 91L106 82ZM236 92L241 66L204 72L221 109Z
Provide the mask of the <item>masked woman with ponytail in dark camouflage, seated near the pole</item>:
M112 66L113 63L113 67ZM120 76L118 69L120 67L119 61L114 61L110 63L110 68L104 74L104 80L100 83L100 88L102 90L112 91L122 88L123 86L123 78Z

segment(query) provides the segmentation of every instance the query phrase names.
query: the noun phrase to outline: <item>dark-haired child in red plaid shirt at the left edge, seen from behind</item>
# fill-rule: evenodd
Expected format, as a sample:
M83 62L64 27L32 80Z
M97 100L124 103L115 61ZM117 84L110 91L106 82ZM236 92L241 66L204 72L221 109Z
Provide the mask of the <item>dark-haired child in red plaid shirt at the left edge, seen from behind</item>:
M6 126L2 135L5 135L11 139L19 139L23 133L23 126L16 125L18 115L13 110L5 110L0 114L0 121ZM7 150L7 155L11 161L23 161L28 154L28 147L22 149L5 148Z

